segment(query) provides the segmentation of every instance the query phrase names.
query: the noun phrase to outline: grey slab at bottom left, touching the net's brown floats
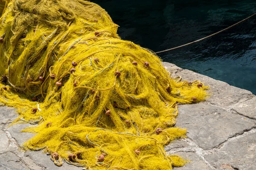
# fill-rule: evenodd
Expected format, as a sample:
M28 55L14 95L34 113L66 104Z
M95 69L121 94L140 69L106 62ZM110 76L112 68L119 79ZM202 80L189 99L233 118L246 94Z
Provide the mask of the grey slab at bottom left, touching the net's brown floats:
M76 167L74 165L67 164L65 161L61 167L58 167L51 161L50 156L41 151L33 152L26 151L25 156L29 156L36 164L41 167L45 167L47 170L81 170L82 167Z

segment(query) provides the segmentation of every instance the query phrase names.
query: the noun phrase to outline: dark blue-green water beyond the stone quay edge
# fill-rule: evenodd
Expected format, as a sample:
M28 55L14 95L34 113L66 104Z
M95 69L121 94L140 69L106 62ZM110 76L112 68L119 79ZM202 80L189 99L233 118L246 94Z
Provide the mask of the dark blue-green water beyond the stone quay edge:
M161 51L213 34L256 13L256 0L94 0L119 35ZM256 17L210 39L159 54L171 62L256 94Z

